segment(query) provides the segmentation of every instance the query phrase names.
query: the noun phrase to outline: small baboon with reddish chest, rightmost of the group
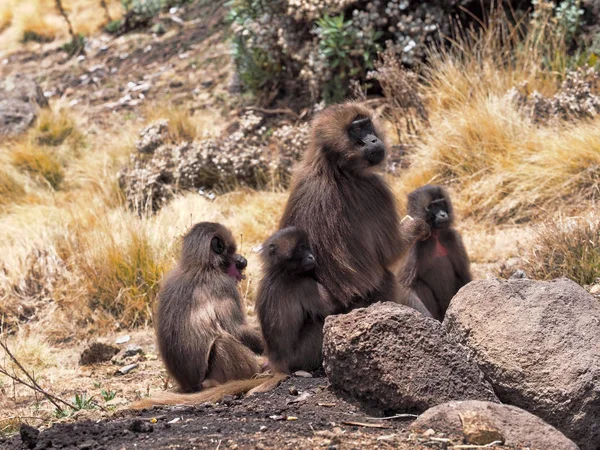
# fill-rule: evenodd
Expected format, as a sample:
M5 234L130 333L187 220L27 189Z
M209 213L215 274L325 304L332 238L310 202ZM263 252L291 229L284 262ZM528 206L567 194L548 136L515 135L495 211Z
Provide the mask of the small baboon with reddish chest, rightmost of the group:
M420 187L408 195L408 214L425 220L431 236L411 248L399 278L441 321L452 297L472 280L467 251L452 226L450 196L441 186Z

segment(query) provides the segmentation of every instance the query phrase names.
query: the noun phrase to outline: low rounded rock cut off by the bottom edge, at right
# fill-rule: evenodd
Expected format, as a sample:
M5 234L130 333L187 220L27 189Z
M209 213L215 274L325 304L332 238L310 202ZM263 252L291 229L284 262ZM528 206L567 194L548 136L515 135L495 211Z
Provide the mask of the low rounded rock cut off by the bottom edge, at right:
M477 400L452 401L428 409L413 422L412 428L419 432L433 429L473 445L499 440L511 448L521 445L536 450L578 449L556 428L527 411Z

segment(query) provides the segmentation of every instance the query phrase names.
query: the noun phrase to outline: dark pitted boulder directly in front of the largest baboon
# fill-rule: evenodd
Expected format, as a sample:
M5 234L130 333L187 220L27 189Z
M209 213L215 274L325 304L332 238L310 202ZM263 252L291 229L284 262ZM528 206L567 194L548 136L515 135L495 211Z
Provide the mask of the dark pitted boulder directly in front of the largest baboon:
M329 316L323 331L332 386L368 406L422 412L450 400L497 401L441 324L412 308L376 303Z

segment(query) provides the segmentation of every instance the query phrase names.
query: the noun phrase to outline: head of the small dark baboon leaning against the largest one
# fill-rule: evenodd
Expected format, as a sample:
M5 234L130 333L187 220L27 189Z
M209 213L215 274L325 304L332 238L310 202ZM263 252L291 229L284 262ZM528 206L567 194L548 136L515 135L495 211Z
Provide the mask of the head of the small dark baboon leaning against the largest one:
M295 227L275 233L266 243L263 258L271 267L296 275L310 274L317 267L308 236Z

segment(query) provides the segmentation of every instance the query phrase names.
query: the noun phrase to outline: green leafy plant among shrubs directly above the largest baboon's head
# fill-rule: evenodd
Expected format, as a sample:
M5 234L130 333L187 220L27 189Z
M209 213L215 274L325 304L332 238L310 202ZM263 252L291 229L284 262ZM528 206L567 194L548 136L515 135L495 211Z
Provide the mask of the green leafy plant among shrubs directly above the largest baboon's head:
M372 31L365 36L353 26L352 20L345 20L340 14L318 19L316 34L319 57L326 61L331 72L323 98L327 102L337 102L346 96L350 79L364 78L367 70L373 69L373 60L381 50L376 41L382 33Z

